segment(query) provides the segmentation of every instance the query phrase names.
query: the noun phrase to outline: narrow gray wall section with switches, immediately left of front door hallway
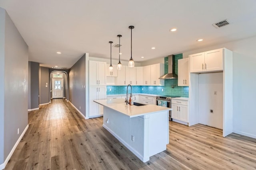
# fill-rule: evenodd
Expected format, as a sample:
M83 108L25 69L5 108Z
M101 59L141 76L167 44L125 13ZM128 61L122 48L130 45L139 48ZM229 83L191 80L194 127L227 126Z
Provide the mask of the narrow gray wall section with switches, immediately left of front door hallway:
M49 68L40 67L39 69L39 104L49 103ZM47 83L47 87L46 87Z

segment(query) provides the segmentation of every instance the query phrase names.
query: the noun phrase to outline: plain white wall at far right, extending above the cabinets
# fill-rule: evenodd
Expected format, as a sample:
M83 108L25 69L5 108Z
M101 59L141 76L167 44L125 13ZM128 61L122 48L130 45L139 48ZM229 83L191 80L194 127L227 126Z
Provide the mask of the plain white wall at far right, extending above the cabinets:
M234 132L256 138L256 36L213 45L183 53L190 54L225 47L233 51L233 122Z

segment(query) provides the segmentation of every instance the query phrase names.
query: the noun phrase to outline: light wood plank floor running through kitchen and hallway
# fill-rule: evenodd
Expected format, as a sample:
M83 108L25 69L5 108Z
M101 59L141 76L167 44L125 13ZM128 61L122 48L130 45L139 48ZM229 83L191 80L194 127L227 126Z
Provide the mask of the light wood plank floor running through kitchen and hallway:
M167 150L143 163L102 127L101 117L85 120L62 99L29 112L28 121L6 170L256 169L256 139L223 138L205 125L171 121Z

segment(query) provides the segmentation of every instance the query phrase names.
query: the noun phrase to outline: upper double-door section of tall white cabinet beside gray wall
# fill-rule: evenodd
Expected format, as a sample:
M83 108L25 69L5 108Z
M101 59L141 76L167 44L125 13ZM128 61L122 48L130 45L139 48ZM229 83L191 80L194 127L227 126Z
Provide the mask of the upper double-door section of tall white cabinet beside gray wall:
M106 62L89 61L90 86L106 86Z

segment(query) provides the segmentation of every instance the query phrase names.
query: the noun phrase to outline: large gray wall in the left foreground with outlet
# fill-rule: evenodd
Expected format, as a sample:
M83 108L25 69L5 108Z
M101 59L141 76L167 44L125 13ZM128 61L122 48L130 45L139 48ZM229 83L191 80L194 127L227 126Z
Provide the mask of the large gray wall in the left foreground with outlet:
M28 45L2 8L0 8L0 25L0 69L4 69L0 71L0 121L3 121L0 123L0 164L2 164L28 125ZM18 128L19 134L17 134Z

